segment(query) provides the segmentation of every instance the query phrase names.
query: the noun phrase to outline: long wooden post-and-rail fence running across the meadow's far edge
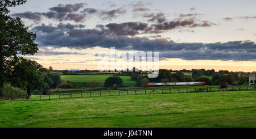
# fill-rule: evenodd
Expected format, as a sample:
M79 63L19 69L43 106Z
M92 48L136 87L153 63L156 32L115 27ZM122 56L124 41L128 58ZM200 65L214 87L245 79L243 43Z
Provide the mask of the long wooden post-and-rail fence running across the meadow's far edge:
M102 91L83 91L83 92L67 92L49 95L27 95L16 100L51 100L51 99L67 99L67 98L84 98L92 96L114 96L114 95L146 95L146 94L173 94L173 93L192 93L192 92L213 92L213 91L244 91L255 90L255 86L247 87L198 87L198 88L171 88L171 89L139 89L139 90L102 90ZM9 98L9 100L15 100Z

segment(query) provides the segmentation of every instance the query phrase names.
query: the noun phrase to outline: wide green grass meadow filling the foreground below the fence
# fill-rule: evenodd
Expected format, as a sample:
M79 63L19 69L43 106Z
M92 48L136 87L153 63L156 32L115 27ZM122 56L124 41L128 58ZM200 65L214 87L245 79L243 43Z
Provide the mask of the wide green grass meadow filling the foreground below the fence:
M0 127L256 127L256 91L1 101Z

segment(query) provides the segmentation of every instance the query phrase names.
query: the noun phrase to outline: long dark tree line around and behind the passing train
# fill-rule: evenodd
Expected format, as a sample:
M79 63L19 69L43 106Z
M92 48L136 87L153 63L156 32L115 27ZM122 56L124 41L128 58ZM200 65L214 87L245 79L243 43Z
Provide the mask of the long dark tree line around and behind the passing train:
M192 73L192 77L186 76L183 73ZM205 70L205 69L192 69L192 70L167 70L159 69L159 75L156 78L148 78L140 72L130 73L130 78L137 81L136 86L143 86L146 82L206 82L207 85L218 85L219 82L228 82L229 84L236 83L242 85L249 80L247 73L233 72L228 70ZM143 79L143 80L142 80Z

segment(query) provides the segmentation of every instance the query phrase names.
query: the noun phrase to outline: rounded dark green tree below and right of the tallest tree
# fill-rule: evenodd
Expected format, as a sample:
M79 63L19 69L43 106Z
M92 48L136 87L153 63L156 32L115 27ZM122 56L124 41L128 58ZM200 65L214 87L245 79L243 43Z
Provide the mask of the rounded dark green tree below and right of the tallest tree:
M36 61L20 58L11 73L11 84L27 90L28 98L31 92L42 90L45 92L49 89L48 84L52 80L46 75L47 69Z

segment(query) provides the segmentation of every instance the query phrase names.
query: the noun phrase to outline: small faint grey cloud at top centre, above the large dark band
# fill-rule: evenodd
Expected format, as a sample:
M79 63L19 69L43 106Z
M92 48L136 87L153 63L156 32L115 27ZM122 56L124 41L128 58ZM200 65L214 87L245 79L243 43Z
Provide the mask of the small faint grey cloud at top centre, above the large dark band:
M102 16L102 19L113 19L117 18L120 14L125 14L126 10L123 9L113 9L109 11L101 11L100 16Z

